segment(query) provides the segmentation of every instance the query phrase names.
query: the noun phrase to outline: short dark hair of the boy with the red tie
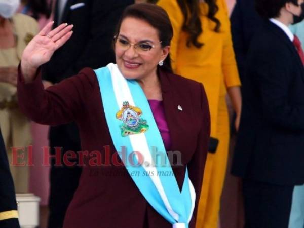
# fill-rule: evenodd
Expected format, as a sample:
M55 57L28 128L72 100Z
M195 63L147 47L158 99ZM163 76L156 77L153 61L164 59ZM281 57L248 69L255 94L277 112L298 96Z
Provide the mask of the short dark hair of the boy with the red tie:
M255 0L255 9L263 18L274 18L280 16L280 10L286 3L298 6L297 0Z

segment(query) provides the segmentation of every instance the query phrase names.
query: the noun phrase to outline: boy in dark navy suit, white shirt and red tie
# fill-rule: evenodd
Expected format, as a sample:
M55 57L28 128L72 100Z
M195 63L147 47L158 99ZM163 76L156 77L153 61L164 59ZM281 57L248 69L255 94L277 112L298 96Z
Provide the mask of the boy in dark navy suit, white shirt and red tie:
M256 0L265 21L248 51L232 166L243 178L246 228L294 228L293 190L304 184L304 62L288 25L303 2Z

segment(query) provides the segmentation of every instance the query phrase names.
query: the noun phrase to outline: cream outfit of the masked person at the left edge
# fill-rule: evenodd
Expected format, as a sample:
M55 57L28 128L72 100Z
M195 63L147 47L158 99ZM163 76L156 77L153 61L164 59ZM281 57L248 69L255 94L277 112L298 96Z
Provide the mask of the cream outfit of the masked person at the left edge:
M17 35L17 46L14 48L0 49L0 67L17 67L22 52L30 39L37 34L37 22L26 15L14 15L13 23ZM17 104L17 88L9 83L0 83L0 103L9 102L16 104L16 107L3 107L0 109L0 128L6 145L10 168L14 179L17 193L28 192L28 166L13 165L12 147L27 147L31 145L32 138L29 120L20 112ZM19 150L24 159L18 159L18 163L27 163L27 149Z

